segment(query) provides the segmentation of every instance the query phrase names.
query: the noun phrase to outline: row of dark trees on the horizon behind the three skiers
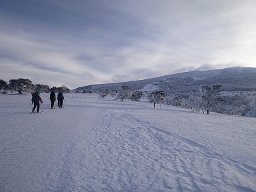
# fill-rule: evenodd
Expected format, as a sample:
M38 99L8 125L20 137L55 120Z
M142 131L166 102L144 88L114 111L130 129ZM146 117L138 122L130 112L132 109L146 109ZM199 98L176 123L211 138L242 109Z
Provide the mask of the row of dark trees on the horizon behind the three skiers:
M31 80L25 79L25 78L18 78L18 79L10 79L9 83L6 81L0 79L0 91L1 93L7 93L7 91L10 92L18 92L18 94L22 94L24 92L70 92L71 90L67 88L66 86L62 85L59 87L53 86L49 87L45 84L33 84Z

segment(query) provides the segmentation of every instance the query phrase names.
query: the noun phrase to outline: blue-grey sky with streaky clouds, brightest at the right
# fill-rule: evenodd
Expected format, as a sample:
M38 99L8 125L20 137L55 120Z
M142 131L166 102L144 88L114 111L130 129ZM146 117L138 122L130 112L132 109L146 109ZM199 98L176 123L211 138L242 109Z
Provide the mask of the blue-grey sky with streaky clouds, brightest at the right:
M0 0L0 79L77 88L256 67L255 0Z

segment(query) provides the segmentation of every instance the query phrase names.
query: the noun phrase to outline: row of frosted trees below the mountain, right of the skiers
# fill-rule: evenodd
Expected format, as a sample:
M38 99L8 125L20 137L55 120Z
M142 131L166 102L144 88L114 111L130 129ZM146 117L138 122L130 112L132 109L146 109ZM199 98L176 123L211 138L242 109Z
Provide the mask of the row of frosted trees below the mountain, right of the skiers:
M117 90L100 89L97 91L99 97L105 97L110 93L116 96L114 100L123 101L131 99L139 101L142 96L146 96L149 103L155 104L165 103L167 105L181 106L191 109L192 112L203 113L206 111L218 112L222 114L242 115L256 117L256 95L235 95L222 96L222 85L219 83L211 85L200 85L198 94L190 94L187 98L179 95L165 93L163 90L153 91L131 91L127 85L121 85Z

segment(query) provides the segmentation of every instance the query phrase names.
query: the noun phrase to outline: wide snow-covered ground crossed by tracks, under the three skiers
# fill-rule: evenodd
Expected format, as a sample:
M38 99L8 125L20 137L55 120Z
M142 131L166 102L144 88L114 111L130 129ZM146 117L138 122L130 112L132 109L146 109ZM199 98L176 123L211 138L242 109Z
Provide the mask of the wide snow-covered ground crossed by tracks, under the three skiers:
M0 94L0 191L256 191L256 118Z

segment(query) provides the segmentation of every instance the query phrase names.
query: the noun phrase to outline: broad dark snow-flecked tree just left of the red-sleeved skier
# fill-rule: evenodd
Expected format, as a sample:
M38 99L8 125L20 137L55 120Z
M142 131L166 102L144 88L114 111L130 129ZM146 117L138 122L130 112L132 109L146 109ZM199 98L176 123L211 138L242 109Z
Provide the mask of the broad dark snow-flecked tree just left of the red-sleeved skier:
M8 89L12 91L18 91L19 94L22 92L33 92L36 86L29 79L18 78L10 79Z

